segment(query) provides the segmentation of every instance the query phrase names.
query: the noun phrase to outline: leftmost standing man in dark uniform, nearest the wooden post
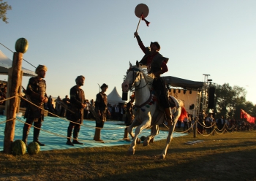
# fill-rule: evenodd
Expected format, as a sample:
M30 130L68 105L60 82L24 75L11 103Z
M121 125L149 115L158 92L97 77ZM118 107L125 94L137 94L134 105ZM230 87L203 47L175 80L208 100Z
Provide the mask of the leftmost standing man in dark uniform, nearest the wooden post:
M26 108L24 118L26 118L26 123L23 127L22 140L27 145L27 139L29 136L29 130L32 123L34 122L34 142L37 142L40 146L45 146L45 144L39 142L39 132L42 126L42 121L44 120L43 105L48 102L48 97L45 93L46 82L43 80L45 78L45 73L47 72L47 67L43 65L37 66L36 74L37 77L31 77L29 79L29 84L26 88L26 95L29 96L31 102L36 106L29 104Z

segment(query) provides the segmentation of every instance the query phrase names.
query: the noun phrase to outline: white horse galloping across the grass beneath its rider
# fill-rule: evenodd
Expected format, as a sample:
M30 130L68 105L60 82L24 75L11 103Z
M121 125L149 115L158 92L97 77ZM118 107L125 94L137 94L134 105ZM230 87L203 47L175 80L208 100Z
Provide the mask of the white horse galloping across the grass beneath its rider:
M148 75L147 67L139 65L138 61L136 62L136 66L132 66L131 63L129 64L130 67L127 71L127 77L121 86L123 92L128 92L128 90L132 88L135 90L136 102L133 109L135 119L133 120L132 125L127 128L133 139L131 146L129 147L128 154L134 155L136 143L140 144L140 139L138 138L140 131L151 127L151 134L143 141L143 145L146 146L154 136L159 134L159 124L162 124L165 118L161 119L154 116L154 113L157 112L157 100L151 93L151 82L154 80L154 77ZM172 98L175 99L174 97ZM169 127L169 134L167 136L165 149L159 157L162 159L165 158L167 149L173 139L173 131L178 118L181 116L181 109L183 109L182 112L185 114L187 113L184 109L183 101L177 99L175 99L175 101L177 102L176 107L171 109L173 114L173 124ZM152 118L157 118L157 121L152 121ZM135 134L133 134L132 129L135 126L137 126L137 128L135 130Z

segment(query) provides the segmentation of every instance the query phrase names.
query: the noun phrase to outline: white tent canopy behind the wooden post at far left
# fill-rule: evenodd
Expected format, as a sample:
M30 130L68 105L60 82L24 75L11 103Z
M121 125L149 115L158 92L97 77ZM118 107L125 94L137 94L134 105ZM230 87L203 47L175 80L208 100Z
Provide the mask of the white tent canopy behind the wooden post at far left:
M12 60L8 58L4 53L0 50L0 74L8 74L9 69L12 68ZM37 76L37 74L34 71L31 71L29 69L25 69L22 67L23 76Z

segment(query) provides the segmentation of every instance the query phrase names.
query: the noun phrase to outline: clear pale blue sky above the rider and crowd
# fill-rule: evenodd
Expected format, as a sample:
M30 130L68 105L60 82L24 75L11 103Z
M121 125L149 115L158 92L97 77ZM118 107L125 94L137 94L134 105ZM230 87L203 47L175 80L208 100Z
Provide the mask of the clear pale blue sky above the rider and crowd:
M165 76L203 82L203 74L210 74L219 85L245 88L246 100L256 104L255 0L4 1L12 10L8 24L0 21L0 42L15 51L17 39L29 41L23 58L48 66L48 95L69 95L82 74L86 99L95 99L102 83L109 85L107 94L116 86L121 96L129 61L143 57L133 34L135 7L144 3L151 24L142 21L138 34L144 45L159 42L160 53L170 58ZM12 59L9 50L0 50ZM34 70L25 61L23 67Z

